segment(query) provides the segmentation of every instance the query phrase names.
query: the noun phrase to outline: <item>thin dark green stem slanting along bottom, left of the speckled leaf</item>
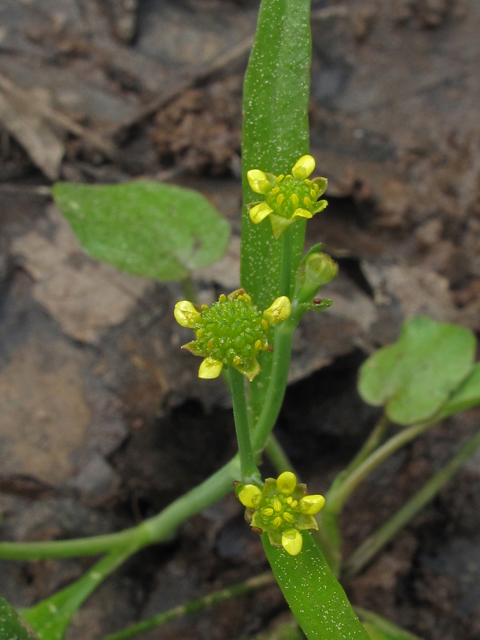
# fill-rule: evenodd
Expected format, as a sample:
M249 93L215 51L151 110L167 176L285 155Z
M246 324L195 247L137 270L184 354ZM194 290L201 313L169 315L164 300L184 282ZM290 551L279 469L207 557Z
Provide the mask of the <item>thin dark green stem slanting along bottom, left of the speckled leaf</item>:
M169 609L163 613L159 613L148 620L142 620L142 622L138 622L136 624L131 625L128 629L124 629L123 631L118 631L117 633L111 633L108 636L105 636L101 640L126 640L126 638L132 638L138 633L142 633L143 631L148 631L149 629L153 629L153 627L158 627L166 622L171 622L172 620L176 620L184 615L189 613L195 613L196 611L201 611L207 607L211 607L215 604L219 604L220 602L225 602L226 600L230 600L232 598L237 598L238 596L245 595L246 593L250 593L252 591L257 591L258 589L263 589L271 584L275 584L276 580L270 571L266 573L262 573L255 578L250 578L245 582L240 584L236 584L232 587L227 587L226 589L221 589L219 591L215 591L208 596L204 596L203 598L198 598L197 600L193 600L192 602L188 602L187 604L180 605L178 607L174 607L173 609Z

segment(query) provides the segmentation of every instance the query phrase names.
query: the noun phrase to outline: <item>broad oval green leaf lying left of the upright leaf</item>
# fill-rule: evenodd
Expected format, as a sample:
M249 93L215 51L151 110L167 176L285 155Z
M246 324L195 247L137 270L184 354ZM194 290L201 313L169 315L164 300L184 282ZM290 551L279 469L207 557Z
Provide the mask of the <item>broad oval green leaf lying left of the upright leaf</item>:
M53 197L87 253L136 276L183 280L228 246L230 225L191 189L60 182Z

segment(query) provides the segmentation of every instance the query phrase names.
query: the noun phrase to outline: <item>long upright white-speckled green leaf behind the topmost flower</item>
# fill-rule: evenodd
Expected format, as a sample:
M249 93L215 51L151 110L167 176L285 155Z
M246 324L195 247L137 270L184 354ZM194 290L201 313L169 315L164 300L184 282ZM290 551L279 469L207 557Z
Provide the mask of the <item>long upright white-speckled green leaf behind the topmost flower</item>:
M310 0L262 0L257 31L245 75L242 138L241 283L260 309L279 295L281 247L292 247L292 285L301 260L305 222L297 220L281 239L273 237L269 220L254 225L247 204L258 200L248 185L247 171L279 175L291 171L309 151ZM319 214L320 215L320 214ZM262 374L250 385L254 415L263 406L272 355L261 354Z

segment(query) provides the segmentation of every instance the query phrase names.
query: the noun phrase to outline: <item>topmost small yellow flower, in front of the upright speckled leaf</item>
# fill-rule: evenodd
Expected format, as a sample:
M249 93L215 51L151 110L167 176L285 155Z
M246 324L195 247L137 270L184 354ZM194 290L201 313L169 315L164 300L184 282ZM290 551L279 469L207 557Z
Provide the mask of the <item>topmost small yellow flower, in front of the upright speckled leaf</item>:
M296 219L310 219L323 211L328 203L319 198L327 188L327 180L309 180L308 176L314 169L315 160L305 155L297 160L291 175L276 177L259 169L248 171L247 179L252 191L265 196L264 202L249 205L251 221L259 224L270 217L273 235L279 238Z

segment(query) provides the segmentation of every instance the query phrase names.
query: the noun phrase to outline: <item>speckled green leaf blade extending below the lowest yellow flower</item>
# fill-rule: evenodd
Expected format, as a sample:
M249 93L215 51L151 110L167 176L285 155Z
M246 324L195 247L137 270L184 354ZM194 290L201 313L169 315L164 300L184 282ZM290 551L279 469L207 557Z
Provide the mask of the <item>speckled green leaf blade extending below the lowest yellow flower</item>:
M344 590L310 534L302 532L297 556L273 547L262 535L275 578L308 640L369 640Z

